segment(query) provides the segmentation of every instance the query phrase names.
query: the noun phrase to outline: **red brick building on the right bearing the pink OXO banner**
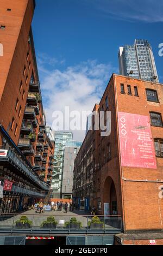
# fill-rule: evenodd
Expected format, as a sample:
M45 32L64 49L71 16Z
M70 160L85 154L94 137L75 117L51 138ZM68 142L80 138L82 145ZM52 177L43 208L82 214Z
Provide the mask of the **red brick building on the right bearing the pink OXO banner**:
M113 74L96 105L105 124L111 111L111 134L89 130L74 164L74 200L122 216L116 244L162 243L162 99L162 84Z

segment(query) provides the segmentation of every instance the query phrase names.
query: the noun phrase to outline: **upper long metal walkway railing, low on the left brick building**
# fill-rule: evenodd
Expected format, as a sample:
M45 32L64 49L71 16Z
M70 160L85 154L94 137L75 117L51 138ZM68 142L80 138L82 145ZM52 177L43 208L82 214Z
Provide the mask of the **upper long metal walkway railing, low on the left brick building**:
M0 162L8 162L8 164L12 164L15 169L22 172L26 175L30 180L33 180L39 187L45 190L49 190L45 183L43 183L39 177L35 174L35 171L32 169L30 164L18 154L14 148L8 146L0 146L0 149L7 150L7 157L0 157Z

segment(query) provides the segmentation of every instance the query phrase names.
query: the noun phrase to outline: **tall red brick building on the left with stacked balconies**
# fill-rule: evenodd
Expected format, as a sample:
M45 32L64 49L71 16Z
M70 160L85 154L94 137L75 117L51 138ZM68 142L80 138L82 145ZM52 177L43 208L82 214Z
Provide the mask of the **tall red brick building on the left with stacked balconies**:
M35 1L0 0L0 5L0 181L15 187L4 190L0 212L10 213L47 196L54 141L46 133L31 28ZM15 193L19 187L22 193Z

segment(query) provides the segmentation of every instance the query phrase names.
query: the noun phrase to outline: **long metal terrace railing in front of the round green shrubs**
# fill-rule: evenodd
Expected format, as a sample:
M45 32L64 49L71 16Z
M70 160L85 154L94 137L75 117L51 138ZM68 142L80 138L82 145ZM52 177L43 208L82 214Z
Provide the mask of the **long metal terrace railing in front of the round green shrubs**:
M23 216L23 218L22 218ZM55 218L55 221L53 219ZM93 216L71 215L0 215L0 233L121 233L121 216L98 216L96 223ZM22 221L20 221L22 218Z

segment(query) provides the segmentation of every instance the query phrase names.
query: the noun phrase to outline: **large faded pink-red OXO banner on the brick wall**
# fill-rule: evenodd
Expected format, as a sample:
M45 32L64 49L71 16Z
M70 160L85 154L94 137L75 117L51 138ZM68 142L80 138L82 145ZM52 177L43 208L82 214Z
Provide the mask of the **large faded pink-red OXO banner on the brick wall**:
M156 169L148 116L118 112L122 166Z

